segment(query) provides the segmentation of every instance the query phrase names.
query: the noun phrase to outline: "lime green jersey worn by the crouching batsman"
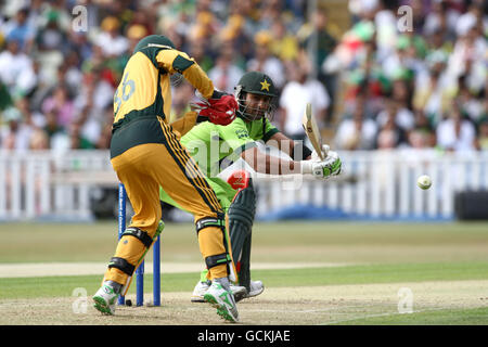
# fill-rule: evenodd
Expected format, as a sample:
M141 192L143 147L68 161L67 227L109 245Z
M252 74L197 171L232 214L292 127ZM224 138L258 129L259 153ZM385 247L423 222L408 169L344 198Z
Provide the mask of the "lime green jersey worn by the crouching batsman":
M207 177L216 177L221 159L236 160L242 152L257 146L256 141L267 142L277 132L266 117L254 121L237 117L228 126L201 123L181 138L181 143Z

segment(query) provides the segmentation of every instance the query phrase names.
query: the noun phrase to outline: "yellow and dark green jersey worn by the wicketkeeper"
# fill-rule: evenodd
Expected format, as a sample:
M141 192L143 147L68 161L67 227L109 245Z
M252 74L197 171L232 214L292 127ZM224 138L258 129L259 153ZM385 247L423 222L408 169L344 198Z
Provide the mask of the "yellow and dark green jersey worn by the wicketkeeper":
M164 141L157 117L169 121L170 75L176 73L182 74L204 98L213 95L211 80L187 53L169 47L147 47L132 54L114 94L111 157L138 144ZM196 118L196 114L191 116ZM118 131L126 127L130 130Z

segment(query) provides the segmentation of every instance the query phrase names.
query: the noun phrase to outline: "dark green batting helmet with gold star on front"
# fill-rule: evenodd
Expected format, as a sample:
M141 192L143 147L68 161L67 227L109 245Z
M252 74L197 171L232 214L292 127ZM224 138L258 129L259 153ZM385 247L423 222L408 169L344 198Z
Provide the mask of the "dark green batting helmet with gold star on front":
M257 120L262 118L262 116L256 116L258 114L258 110L249 107L246 104L247 93L267 95L270 98L268 108L266 110L264 116L271 118L277 107L275 103L278 99L278 91L272 79L266 74L251 72L244 74L239 80L237 86L234 87L235 100L237 100L239 103L239 116L247 120Z

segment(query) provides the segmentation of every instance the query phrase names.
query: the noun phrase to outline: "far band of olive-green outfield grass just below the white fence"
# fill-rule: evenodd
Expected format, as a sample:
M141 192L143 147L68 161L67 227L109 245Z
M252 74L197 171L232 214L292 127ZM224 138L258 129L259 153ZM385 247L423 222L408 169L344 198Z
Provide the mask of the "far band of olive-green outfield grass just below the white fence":
M0 223L0 262L108 261L117 223ZM149 258L151 259L151 255ZM201 261L194 226L166 226L163 261ZM488 261L488 223L259 223L254 261Z

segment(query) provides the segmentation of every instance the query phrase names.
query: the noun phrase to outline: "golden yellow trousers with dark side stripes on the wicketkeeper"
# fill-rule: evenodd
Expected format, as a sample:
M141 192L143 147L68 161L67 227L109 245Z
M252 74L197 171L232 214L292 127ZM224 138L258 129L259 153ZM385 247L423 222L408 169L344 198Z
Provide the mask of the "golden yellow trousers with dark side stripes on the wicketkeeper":
M111 160L134 210L128 228L136 227L144 231L153 242L162 218L159 185L175 202L193 214L195 223L206 218L222 219L224 216L214 190L181 145L171 126L160 117L158 120L164 137L162 143L136 145ZM200 250L205 260L227 254L224 243L224 233L219 227L203 227L198 231ZM142 262L147 248L139 239L124 235L117 244L114 258L127 261L130 270L126 268L123 271L110 266L104 281L126 285L127 292L131 274ZM209 272L210 279L227 277L227 264L214 266Z

